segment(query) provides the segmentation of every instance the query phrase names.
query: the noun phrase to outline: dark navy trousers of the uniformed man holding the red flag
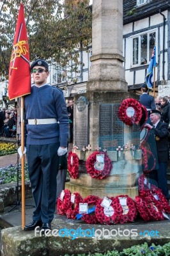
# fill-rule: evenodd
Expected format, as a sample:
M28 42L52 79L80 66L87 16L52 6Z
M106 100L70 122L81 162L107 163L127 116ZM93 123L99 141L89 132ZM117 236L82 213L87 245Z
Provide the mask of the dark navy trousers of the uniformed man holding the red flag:
M27 145L27 164L35 211L33 220L50 223L56 210L56 177L58 174L59 143Z

